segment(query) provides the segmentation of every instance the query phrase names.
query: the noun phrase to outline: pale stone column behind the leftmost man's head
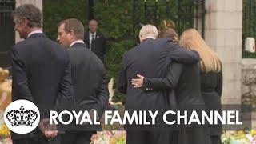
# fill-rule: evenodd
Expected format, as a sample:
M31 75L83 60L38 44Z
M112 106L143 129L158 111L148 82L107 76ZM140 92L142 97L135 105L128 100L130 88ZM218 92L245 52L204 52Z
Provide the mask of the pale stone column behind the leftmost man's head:
M16 0L16 7L21 6L23 4L33 4L34 6L37 6L40 10L42 10L42 0ZM22 41L21 38L19 38L18 32L15 32L15 42Z

